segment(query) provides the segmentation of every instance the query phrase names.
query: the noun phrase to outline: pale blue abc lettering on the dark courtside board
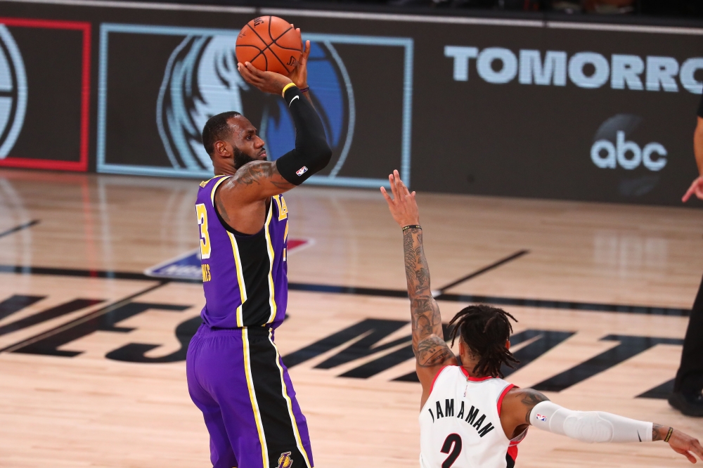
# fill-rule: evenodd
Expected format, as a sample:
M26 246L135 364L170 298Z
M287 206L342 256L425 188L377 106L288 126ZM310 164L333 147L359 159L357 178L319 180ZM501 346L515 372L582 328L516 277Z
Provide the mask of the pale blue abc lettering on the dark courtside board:
M644 148L634 141L625 141L625 132L617 131L616 143L598 140L591 146L591 160L600 169L636 169L642 164L650 171L666 166L666 148L661 143L647 143Z

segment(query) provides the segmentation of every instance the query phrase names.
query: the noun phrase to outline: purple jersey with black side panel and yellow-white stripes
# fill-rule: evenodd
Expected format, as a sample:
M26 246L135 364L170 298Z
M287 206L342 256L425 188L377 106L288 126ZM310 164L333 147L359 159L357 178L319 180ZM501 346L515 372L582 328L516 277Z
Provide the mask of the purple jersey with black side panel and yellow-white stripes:
M217 187L231 176L200 183L195 214L200 226L200 259L209 327L277 327L288 304L288 209L283 196L271 197L258 233L243 235L226 225L214 207Z

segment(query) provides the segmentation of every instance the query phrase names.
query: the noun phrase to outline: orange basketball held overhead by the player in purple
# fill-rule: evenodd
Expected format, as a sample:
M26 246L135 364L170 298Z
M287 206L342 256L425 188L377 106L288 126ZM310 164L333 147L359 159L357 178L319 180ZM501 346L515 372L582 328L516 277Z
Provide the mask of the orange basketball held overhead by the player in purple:
M237 37L237 60L259 70L288 76L302 49L300 32L278 16L260 16L247 22Z

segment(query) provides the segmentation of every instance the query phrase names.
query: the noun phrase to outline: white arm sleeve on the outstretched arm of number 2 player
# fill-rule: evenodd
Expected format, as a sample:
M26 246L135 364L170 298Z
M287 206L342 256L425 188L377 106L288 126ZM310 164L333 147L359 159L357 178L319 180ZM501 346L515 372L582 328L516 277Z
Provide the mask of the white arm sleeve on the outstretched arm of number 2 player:
M537 403L529 415L537 429L581 442L651 442L652 423L602 411L572 411L551 401Z

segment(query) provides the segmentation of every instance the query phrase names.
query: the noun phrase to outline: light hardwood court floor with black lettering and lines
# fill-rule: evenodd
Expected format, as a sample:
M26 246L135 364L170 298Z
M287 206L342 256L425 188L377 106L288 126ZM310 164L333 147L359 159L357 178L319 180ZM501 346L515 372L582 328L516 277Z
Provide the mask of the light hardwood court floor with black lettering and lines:
M0 170L0 467L209 466L183 362L202 289L141 275L197 247L197 188ZM290 237L311 245L290 255L290 318L276 342L316 466L416 467L420 386L394 380L413 371L400 231L374 190L297 188L285 197ZM513 344L524 365L508 380L569 408L703 437L703 420L660 398L703 273L699 211L418 200L444 320L471 300L502 304L520 320ZM318 355L295 353L325 337L336 338ZM687 464L663 443L586 445L536 430L517 459L519 467Z

